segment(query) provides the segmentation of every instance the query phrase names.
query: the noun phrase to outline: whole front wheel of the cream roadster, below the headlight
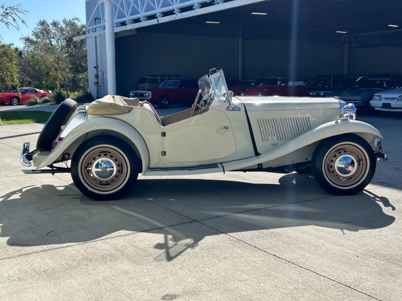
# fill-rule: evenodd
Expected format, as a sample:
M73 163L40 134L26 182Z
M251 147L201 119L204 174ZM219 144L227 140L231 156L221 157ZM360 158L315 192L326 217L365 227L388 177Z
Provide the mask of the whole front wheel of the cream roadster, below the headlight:
M320 142L311 163L314 179L323 189L334 195L352 195L370 183L376 159L367 141L345 134Z

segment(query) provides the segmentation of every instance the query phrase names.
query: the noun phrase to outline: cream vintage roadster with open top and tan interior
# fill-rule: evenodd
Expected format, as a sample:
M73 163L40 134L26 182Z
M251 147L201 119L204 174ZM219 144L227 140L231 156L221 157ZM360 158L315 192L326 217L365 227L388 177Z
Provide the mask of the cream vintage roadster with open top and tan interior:
M371 181L376 161L387 159L381 134L354 120L353 104L340 110L334 98L233 97L216 69L199 88L191 109L162 117L137 98L107 96L78 107L67 99L37 148L23 144L22 165L37 167L23 172L71 173L84 195L105 200L126 193L139 173L290 173L311 165L323 189L349 195Z

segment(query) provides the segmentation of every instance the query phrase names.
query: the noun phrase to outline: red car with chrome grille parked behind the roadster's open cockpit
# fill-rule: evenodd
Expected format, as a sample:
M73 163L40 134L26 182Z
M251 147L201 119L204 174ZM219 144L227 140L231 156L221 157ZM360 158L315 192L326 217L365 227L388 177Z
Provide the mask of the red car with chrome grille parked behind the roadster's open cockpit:
M130 97L158 104L158 108L167 108L169 104L187 105L193 103L198 93L197 81L170 80L158 87L144 91L131 91Z

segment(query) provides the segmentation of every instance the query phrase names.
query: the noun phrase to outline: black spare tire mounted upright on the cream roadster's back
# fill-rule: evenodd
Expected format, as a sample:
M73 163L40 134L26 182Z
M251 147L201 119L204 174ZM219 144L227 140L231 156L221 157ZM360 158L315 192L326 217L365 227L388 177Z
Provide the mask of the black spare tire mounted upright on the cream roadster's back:
M36 142L36 149L40 152L51 150L51 144L60 132L60 127L66 124L77 108L77 103L71 98L67 98L59 104L47 120Z

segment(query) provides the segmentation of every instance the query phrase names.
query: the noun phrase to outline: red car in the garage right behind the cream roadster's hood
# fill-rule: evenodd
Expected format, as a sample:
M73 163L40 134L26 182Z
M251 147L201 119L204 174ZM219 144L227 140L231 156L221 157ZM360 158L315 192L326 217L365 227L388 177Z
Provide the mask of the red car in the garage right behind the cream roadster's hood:
M289 86L282 76L269 76L262 85L245 89L240 96L308 96L304 86Z

